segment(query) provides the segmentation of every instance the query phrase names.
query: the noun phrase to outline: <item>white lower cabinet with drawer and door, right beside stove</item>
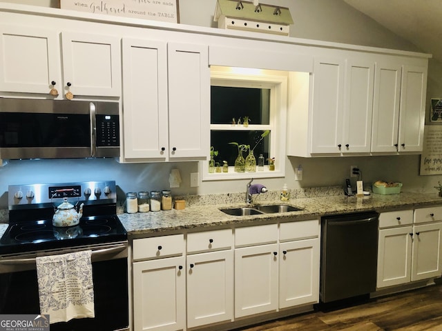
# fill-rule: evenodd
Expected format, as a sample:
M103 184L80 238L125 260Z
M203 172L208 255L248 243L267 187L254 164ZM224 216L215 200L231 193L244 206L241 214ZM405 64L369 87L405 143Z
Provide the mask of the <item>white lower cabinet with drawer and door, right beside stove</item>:
M184 236L135 239L133 259L133 330L184 330Z

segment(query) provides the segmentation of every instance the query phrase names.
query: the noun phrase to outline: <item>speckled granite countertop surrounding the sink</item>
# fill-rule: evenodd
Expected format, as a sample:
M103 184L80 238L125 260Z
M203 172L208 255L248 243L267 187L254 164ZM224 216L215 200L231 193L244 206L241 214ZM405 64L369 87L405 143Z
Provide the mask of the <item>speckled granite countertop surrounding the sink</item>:
M280 204L281 201L260 201L260 204ZM258 214L251 216L231 216L220 208L245 207L245 203L191 205L184 210L167 210L135 214L119 214L129 236L146 237L157 232L171 232L189 229L201 229L229 225L253 225L264 222L297 221L314 219L324 215L343 214L376 210L378 212L414 209L430 205L442 205L442 198L434 194L402 192L401 194L372 194L367 197L310 197L291 199L287 204L303 210L276 214ZM166 233L164 233L166 234Z

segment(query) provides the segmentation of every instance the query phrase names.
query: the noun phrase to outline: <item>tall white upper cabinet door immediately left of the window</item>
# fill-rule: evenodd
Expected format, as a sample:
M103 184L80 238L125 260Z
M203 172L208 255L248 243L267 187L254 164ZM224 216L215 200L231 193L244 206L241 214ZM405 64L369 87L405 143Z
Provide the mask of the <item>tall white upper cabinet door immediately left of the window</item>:
M168 44L169 157L206 159L210 148L208 46Z

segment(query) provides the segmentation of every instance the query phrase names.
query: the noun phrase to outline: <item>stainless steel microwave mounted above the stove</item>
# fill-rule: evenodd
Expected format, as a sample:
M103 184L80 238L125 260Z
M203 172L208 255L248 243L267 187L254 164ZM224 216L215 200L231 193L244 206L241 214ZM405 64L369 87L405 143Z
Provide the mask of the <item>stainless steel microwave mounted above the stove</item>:
M111 101L0 98L0 159L119 157Z

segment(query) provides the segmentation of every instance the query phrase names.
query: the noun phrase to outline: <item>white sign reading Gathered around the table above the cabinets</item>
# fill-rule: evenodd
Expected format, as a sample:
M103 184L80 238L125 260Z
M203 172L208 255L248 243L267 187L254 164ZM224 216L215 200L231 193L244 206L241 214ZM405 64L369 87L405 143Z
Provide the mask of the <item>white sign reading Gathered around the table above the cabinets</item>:
M178 0L60 0L60 8L180 23Z

